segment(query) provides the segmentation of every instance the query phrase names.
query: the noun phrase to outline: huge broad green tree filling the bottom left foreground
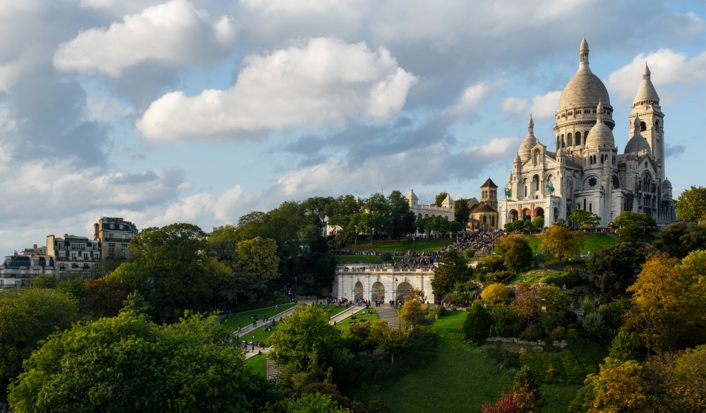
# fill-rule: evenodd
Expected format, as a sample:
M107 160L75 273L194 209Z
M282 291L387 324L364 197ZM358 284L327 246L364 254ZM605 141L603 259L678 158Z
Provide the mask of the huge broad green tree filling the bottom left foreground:
M145 316L78 323L26 361L16 412L253 412L266 388L215 316L158 326Z

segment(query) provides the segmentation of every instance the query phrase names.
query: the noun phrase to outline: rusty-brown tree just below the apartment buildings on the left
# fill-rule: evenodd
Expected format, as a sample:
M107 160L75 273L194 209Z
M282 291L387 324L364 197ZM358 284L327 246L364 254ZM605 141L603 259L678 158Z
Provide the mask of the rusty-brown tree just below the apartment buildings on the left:
M96 318L117 316L128 297L125 285L112 274L84 280L81 292L81 306Z

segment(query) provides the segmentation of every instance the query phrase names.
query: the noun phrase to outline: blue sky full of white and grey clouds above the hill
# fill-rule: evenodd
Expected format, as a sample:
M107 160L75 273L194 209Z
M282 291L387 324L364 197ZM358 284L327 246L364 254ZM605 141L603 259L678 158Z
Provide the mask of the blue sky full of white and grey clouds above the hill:
M705 186L706 4L0 0L0 253L100 217L206 232L286 200L507 182L590 67L618 151L645 62L674 196Z

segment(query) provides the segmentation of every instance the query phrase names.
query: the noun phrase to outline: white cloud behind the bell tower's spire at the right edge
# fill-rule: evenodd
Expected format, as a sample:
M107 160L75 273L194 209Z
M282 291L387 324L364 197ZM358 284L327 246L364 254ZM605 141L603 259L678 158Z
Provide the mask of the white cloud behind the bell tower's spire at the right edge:
M657 52L640 53L630 64L611 73L606 82L608 90L617 93L620 100L631 102L635 99L645 62L650 67L652 84L657 88L662 104L674 100L679 90L706 80L706 52L689 59L686 53L659 49Z

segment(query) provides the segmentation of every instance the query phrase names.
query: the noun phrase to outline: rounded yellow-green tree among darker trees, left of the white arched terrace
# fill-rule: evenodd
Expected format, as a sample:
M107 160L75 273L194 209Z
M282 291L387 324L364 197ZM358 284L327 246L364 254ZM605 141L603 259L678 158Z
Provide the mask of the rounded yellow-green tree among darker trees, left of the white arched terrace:
M240 241L236 252L238 265L249 275L265 282L280 276L280 258L277 257L277 242L274 239L255 237Z

